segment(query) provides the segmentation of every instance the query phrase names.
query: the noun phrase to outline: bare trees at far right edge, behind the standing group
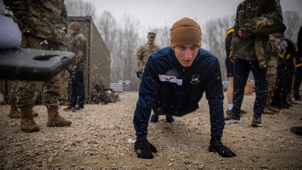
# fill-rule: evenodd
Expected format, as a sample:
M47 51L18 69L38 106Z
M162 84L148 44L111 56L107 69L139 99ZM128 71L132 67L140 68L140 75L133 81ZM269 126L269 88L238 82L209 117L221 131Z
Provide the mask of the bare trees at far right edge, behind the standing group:
M284 35L293 43L297 43L297 36L302 24L302 18L297 11L285 11L283 13L283 23L286 25Z

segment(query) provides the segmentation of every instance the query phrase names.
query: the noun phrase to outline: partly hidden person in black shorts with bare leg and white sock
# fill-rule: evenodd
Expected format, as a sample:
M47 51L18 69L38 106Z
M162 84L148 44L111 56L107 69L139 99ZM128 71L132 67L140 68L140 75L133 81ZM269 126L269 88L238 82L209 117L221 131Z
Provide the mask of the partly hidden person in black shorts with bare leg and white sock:
M231 47L231 42L232 42L232 37L233 37L233 32L234 28L231 28L226 31L226 36L224 38L225 40L225 47L226 47L226 75L229 80L229 87L227 88L226 91L226 97L228 101L228 110L226 111L226 115L229 115L230 112L232 112L233 108L233 80L234 80L234 63L231 62L229 56L230 56L230 47ZM246 111L240 110L240 116L243 114L246 114Z

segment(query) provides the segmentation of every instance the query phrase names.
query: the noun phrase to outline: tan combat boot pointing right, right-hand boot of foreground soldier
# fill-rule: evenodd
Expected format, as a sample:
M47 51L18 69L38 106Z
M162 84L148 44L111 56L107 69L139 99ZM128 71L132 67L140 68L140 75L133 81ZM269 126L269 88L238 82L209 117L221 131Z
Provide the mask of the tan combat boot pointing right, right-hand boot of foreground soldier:
M58 106L46 106L47 107L47 126L67 126L71 124L71 121L65 120L63 117L59 115Z

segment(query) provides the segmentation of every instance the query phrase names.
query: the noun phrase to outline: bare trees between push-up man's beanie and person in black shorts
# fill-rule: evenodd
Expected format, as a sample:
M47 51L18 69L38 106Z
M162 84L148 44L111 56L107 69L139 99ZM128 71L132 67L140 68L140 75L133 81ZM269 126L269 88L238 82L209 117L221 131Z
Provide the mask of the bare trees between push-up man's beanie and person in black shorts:
M226 79L226 51L225 51L225 34L226 31L234 25L234 15L224 16L215 20L207 21L202 30L203 48L214 54L220 63L222 79Z

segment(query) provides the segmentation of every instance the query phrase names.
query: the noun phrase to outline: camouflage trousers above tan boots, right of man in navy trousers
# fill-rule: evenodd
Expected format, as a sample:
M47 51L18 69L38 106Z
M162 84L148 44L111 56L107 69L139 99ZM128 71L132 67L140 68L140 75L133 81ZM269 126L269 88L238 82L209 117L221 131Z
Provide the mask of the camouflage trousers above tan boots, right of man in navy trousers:
M266 104L271 104L277 79L277 59L272 58L268 63L269 66L266 72L266 81L268 87Z

